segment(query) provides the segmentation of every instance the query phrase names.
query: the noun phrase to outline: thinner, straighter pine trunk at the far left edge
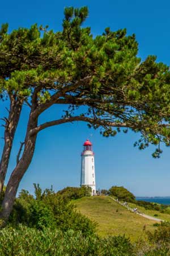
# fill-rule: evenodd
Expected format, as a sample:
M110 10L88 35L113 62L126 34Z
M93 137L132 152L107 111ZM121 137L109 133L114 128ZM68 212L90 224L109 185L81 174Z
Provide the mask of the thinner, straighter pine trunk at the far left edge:
M16 127L18 126L20 113L22 110L22 102L11 98L10 111L5 127L5 144L3 147L1 163L0 163L0 195L3 190L5 176L10 160L10 154L12 149L12 143L14 141L14 135Z

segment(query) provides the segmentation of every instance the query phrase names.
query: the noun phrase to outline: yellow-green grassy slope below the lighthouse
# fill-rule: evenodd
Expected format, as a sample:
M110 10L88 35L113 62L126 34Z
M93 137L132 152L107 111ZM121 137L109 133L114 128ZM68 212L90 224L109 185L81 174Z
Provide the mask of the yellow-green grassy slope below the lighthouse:
M83 197L74 203L77 210L97 222L97 233L100 236L125 234L132 241L136 241L139 237L145 236L143 229L155 229L155 221L130 212L108 196Z

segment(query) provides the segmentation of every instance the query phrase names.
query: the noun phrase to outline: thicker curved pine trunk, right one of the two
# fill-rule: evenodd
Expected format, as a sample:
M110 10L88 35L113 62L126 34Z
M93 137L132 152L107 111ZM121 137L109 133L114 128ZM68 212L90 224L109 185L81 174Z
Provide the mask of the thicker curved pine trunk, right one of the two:
M35 151L37 134L31 136L30 131L36 126L37 119L29 118L27 134L25 137L24 152L22 158L19 160L19 163L16 165L14 171L10 176L6 187L5 196L2 202L2 211L0 213L0 218L3 219L5 222L8 220L8 217L10 216L10 213L12 211L19 183L22 180L23 175L27 171L29 164L31 163L33 153Z

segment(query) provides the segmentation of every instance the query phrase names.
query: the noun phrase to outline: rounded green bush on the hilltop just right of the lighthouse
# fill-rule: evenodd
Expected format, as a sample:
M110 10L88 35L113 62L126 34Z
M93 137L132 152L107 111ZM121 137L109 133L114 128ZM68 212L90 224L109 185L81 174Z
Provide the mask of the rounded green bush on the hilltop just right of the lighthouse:
M116 196L118 200L134 203L135 196L124 187L113 186L109 189L109 195Z

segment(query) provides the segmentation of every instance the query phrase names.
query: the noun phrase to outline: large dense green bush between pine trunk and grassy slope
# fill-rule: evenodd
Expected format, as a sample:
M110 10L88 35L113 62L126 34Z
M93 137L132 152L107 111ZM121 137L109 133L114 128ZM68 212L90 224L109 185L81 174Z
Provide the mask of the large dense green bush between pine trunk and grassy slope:
M86 191L86 189L82 189ZM84 192L82 192L84 193ZM71 199L70 199L71 200ZM73 229L81 231L84 236L95 232L96 223L76 212L74 204L63 199L52 189L42 192L35 184L35 197L22 190L14 204L9 222L12 226L24 224L36 229L61 229L63 232Z

